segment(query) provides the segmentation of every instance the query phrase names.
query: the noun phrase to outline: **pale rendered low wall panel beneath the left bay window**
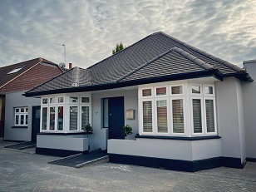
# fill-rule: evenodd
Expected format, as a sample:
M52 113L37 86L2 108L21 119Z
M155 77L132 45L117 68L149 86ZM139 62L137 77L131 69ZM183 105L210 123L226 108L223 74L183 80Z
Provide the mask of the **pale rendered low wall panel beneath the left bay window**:
M88 150L87 135L37 135L37 147L57 150Z

